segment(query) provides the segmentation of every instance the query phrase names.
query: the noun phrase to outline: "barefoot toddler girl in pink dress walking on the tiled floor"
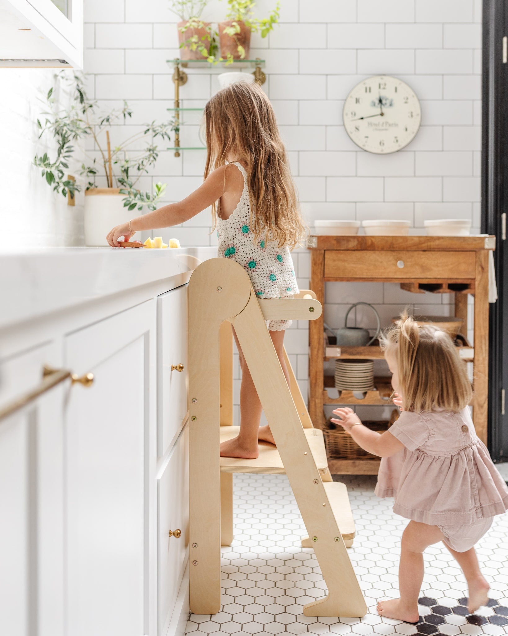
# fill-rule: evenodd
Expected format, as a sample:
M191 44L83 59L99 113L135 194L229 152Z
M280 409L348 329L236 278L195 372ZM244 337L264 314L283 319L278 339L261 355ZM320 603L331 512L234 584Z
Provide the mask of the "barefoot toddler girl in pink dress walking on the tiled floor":
M476 436L469 413L471 384L450 336L418 326L403 315L382 342L401 415L379 434L363 426L351 408L331 420L359 446L382 457L376 494L395 497L394 512L410 519L402 536L400 598L378 604L387 618L418 620L425 548L443 541L464 572L467 607L487 602L474 544L494 515L508 508L508 488Z

